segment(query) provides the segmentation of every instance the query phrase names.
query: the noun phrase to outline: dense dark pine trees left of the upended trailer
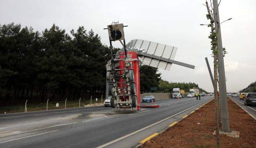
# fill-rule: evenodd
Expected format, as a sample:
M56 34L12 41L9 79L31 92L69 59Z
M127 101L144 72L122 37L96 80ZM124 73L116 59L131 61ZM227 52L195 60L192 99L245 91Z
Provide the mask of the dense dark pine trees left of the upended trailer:
M0 103L101 96L108 53L83 26L68 35L55 24L43 32L0 25Z

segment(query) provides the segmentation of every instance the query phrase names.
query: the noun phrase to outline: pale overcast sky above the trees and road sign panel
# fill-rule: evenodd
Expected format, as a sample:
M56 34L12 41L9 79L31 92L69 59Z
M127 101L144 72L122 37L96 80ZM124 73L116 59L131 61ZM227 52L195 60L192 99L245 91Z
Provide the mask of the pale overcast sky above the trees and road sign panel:
M210 28L200 26L206 19L205 0L0 0L0 24L20 23L43 31L53 23L69 33L78 26L92 29L109 46L107 30L112 21L125 28L126 42L144 39L178 47L175 60L195 65L189 69L172 65L159 69L162 79L194 82L213 92L205 57L213 69ZM256 0L221 0L220 21L227 91L237 92L256 81ZM115 47L121 47L114 44Z

